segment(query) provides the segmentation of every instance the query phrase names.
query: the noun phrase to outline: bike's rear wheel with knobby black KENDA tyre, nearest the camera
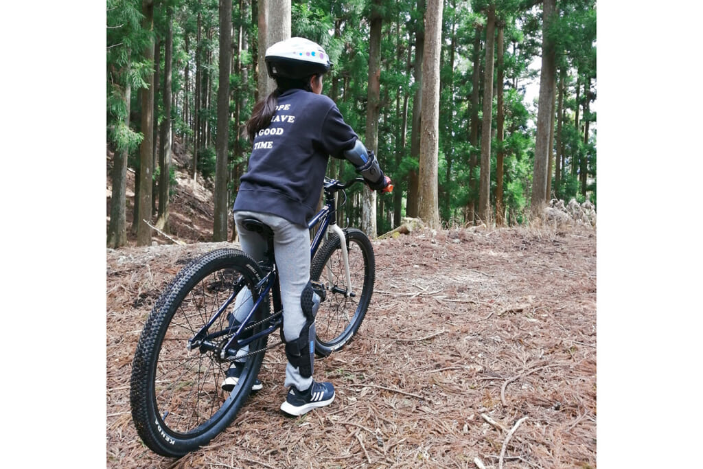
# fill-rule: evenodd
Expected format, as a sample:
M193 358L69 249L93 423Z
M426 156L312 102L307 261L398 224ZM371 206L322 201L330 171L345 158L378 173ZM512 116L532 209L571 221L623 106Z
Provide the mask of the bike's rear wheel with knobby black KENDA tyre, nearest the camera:
M244 252L217 250L188 264L157 300L134 354L129 394L136 430L155 453L183 456L207 444L231 423L249 396L264 352L247 357L231 392L221 388L230 361L221 359L219 352L231 337L227 315L235 312L234 298L250 294L256 300L254 286L261 278L259 266ZM268 301L262 304L254 323L269 315ZM202 342L191 346L214 316ZM262 323L252 332L263 328ZM266 336L249 349L265 346Z

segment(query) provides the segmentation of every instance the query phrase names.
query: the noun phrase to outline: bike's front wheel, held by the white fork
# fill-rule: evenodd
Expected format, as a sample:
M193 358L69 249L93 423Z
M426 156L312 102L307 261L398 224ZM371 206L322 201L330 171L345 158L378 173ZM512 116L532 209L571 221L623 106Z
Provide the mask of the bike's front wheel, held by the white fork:
M315 319L315 352L320 356L341 349L354 337L373 294L375 259L371 242L358 229L344 230L344 236L351 285L347 285L342 246L336 233L330 233L311 264L311 280L322 283L327 293Z

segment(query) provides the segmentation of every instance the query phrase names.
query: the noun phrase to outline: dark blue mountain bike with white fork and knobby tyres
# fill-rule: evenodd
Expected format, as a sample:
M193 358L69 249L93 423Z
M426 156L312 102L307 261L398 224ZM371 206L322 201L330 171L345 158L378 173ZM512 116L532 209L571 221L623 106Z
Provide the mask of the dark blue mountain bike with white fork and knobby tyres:
M308 224L315 230L311 283L323 299L316 315L318 356L352 340L373 294L375 259L368 236L336 222L335 194L346 202L344 189L356 182L363 179L325 178L325 205ZM131 414L143 442L162 456L183 456L222 432L249 397L266 350L283 344L268 345L269 335L283 324L273 233L257 219L245 220L245 226L268 241L266 260L255 262L237 249L193 260L160 295L139 338ZM233 311L238 295L251 295L244 303L248 311ZM245 319L231 321L230 314ZM227 392L221 383L235 359L244 361L243 371Z

